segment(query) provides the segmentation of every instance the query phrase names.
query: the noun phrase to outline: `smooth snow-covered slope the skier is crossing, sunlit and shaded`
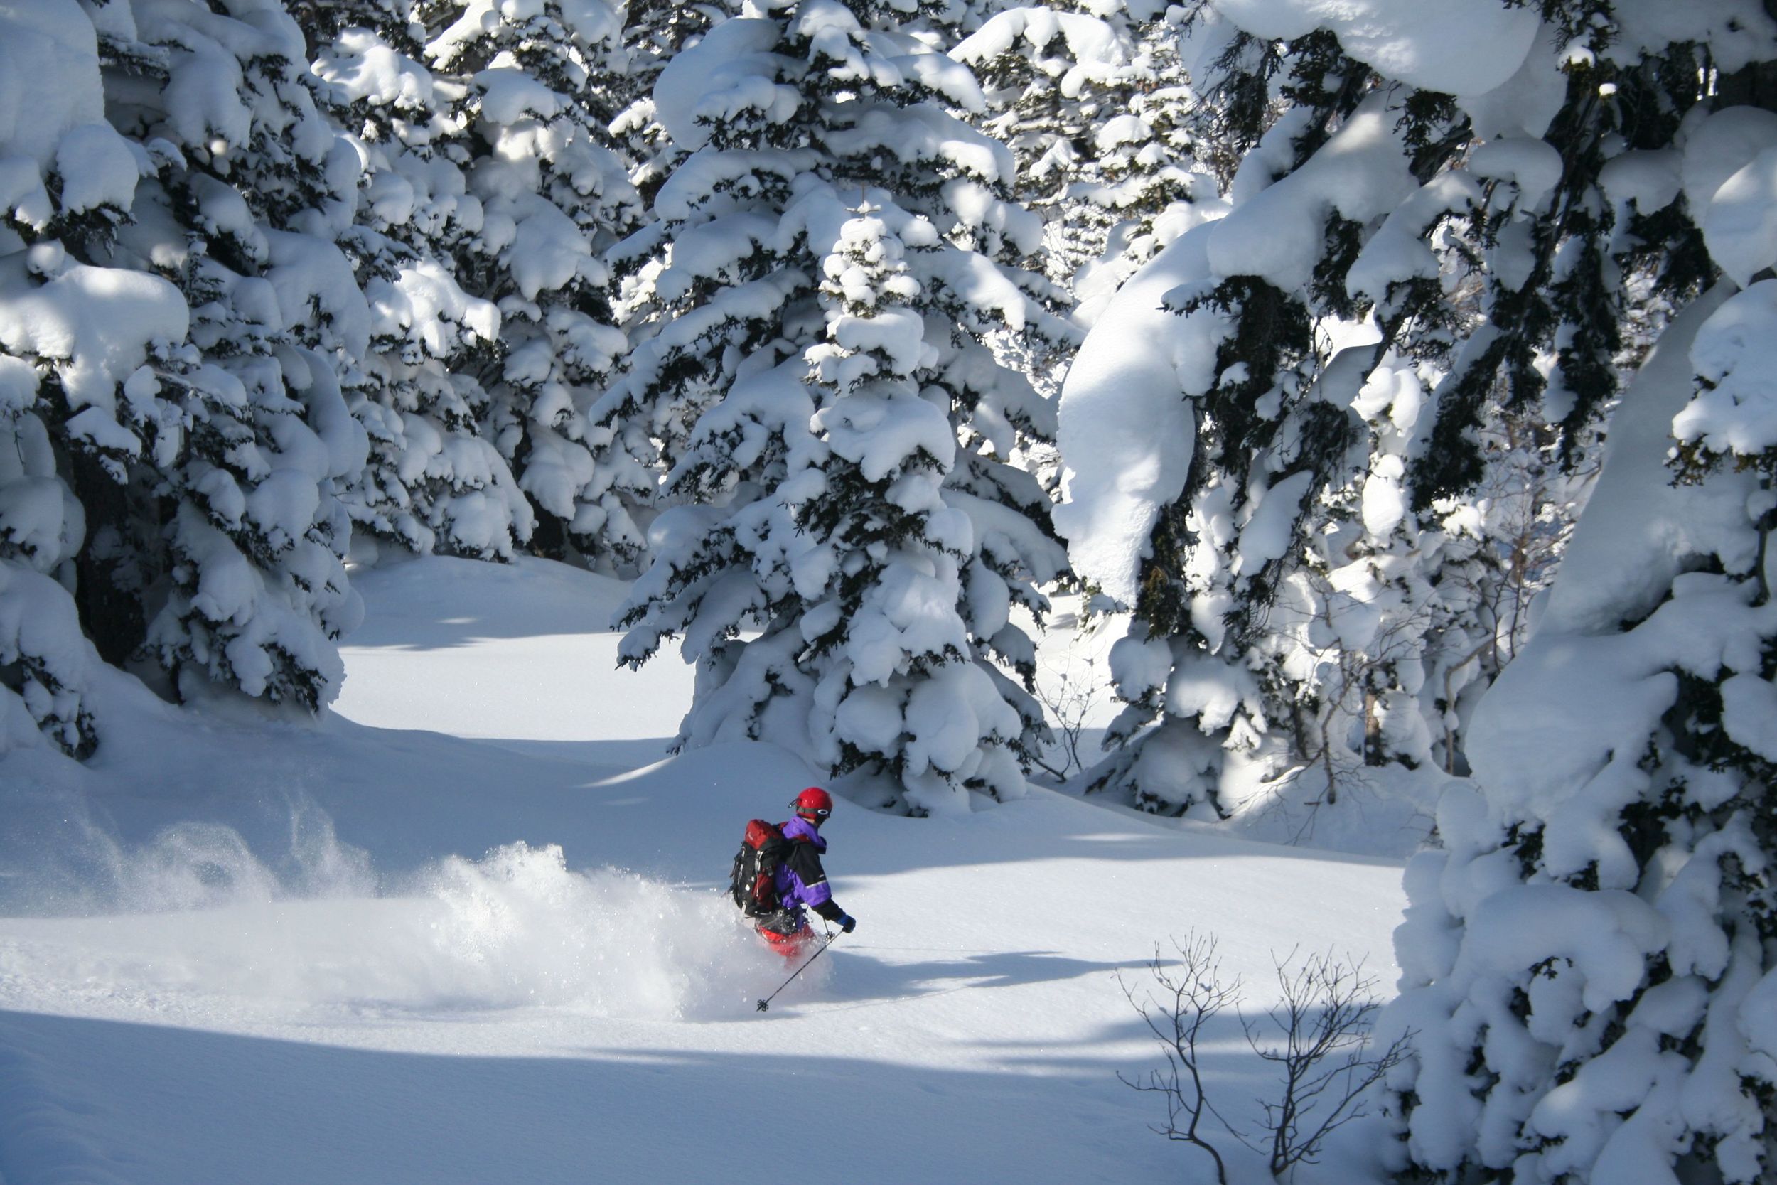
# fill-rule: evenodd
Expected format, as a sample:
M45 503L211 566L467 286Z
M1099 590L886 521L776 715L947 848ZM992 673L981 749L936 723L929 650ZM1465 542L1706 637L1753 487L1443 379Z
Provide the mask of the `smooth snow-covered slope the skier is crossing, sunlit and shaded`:
M7 1185L1207 1181L1114 1077L1157 1061L1114 972L1198 927L1255 1002L1297 945L1393 979L1398 865L1036 791L952 821L841 803L858 931L761 1014L787 968L714 887L809 771L764 744L647 764L688 673L610 670L597 577L355 583L339 716L179 714L119 680L128 743L5 759ZM1214 1038L1249 1117L1260 1064L1233 1018ZM1303 1180L1365 1180L1359 1137Z

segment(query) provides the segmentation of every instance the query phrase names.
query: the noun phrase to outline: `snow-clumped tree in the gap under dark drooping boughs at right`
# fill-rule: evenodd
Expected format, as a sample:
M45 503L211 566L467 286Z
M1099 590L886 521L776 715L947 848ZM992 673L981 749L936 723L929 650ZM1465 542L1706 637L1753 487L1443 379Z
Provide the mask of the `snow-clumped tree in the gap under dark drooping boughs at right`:
M1292 839L1313 839L1315 805L1398 799L1429 812L1439 780L1411 771L1466 773L1473 693L1523 641L1564 508L1590 476L1551 473L1514 446L1523 428L1502 416L1487 483L1414 513L1406 465L1429 419L1422 371L1436 375L1390 354L1368 375L1351 405L1368 464L1320 492L1299 560L1247 631L1247 663L1283 705L1272 730L1290 762L1267 787L1287 830L1269 830Z

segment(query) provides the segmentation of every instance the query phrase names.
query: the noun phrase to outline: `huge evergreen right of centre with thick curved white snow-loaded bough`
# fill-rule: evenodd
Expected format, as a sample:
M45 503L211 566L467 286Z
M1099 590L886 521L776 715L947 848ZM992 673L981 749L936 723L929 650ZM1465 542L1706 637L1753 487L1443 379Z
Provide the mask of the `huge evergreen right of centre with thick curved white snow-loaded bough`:
M1239 162L1231 213L1125 286L1063 396L1057 524L1136 616L1098 785L1157 808L1324 803L1308 775L1335 752L1461 771L1473 693L1528 627L1498 609L1546 579L1583 494L1642 316L1626 293L1654 313L1695 282L1695 235L1637 155L1695 101L1683 68L1516 78L1558 34L1489 5L1455 28L1505 66L1418 25L1391 57L1368 28L1189 14L1194 142ZM1379 435L1367 384L1407 364L1423 400Z

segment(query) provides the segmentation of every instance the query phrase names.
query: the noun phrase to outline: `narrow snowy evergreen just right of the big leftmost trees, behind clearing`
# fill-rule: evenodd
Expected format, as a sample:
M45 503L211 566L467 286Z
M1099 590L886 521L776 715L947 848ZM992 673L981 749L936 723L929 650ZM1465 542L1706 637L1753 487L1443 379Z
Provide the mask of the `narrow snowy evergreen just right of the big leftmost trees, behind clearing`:
M370 464L343 496L357 529L409 551L505 558L535 515L487 439L499 311L464 290L490 268L485 211L467 153L450 135L451 98L423 64L407 5L311 4L315 85L363 162L363 203L341 245L368 300L363 318L304 334L331 357Z

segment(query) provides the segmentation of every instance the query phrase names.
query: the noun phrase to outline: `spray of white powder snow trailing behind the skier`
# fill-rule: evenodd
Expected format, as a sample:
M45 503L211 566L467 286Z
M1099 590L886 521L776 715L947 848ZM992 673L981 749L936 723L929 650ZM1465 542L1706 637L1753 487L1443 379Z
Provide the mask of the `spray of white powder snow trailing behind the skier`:
M748 1014L785 975L716 892L572 871L562 847L522 842L371 888L363 853L331 824L320 833L332 851L318 844L295 885L213 824L116 849L103 911L0 929L0 1006L105 997L172 1018L220 1006L311 1020L490 1009L720 1020Z

